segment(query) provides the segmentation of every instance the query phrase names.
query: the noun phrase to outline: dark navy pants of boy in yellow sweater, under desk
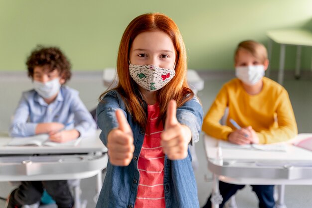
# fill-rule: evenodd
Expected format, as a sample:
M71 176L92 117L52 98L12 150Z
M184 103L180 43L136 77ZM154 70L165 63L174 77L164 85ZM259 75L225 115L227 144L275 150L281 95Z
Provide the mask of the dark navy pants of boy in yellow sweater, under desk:
M252 191L256 193L259 199L259 208L274 208L275 201L273 198L274 186L273 185L251 185ZM223 208L224 204L245 185L228 184L222 181L219 182L220 194L223 201L219 208ZM211 208L211 195L208 198L206 205L203 208Z

